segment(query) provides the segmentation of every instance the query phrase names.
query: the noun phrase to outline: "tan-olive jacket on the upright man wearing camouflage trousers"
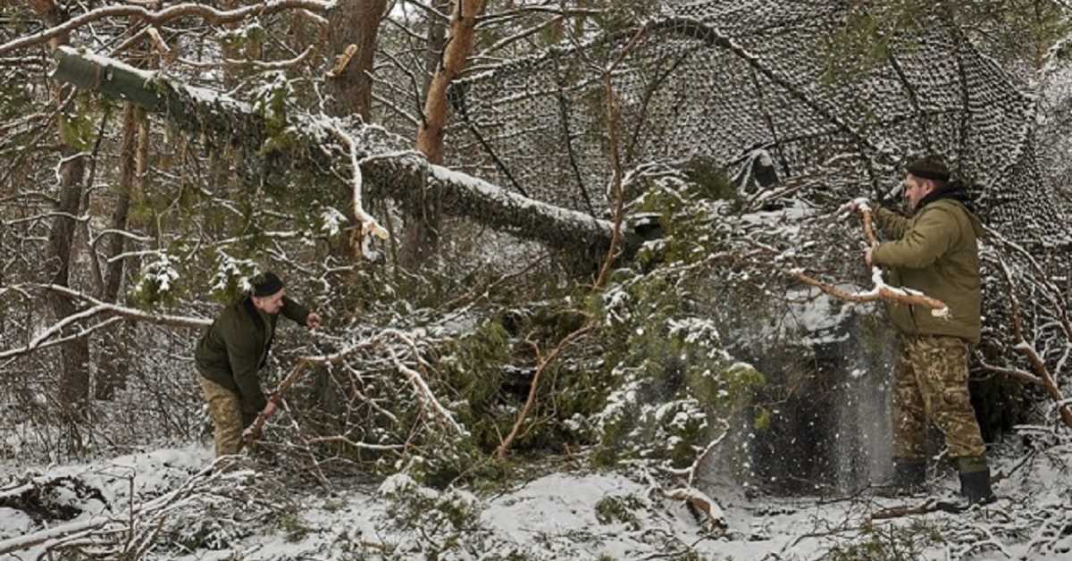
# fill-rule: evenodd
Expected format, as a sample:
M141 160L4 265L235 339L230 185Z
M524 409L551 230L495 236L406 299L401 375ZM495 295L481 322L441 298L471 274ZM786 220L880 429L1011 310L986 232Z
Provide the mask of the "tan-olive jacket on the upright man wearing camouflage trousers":
M904 335L944 335L979 342L982 290L979 243L982 224L955 193L921 201L911 218L880 208L875 221L893 241L872 250L872 263L890 269L889 284L914 289L949 306L937 318L924 306L889 302L894 327Z

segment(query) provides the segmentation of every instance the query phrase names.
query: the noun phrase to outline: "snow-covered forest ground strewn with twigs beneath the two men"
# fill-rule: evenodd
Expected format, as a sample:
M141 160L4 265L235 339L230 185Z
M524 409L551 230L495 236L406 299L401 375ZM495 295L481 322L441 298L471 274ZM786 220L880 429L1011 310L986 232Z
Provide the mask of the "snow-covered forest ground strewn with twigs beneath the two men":
M0 558L39 559L47 547L111 558L140 543L132 559L1072 559L1072 454L1060 449L1016 466L999 461L998 470L1015 468L996 487L999 501L961 514L872 519L924 499L874 490L773 498L720 484L704 490L725 511L724 528L698 523L682 502L664 498L643 463L596 472L548 459L507 488L441 491L402 475L287 485L287 474L248 460L206 475L210 461L210 449L190 444L87 464L2 466L0 500L9 506L0 507ZM954 481L935 482L935 492L952 492ZM11 498L32 482L42 489L38 503L54 514L73 507L71 520L13 508ZM183 485L193 489L185 498L146 506ZM107 522L78 534L80 542L54 536L4 552L46 528L94 520Z

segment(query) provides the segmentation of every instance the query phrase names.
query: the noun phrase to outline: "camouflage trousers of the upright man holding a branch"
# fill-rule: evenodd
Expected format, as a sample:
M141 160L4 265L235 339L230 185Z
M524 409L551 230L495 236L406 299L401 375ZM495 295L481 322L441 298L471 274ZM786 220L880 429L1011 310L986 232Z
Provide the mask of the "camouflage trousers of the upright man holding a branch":
M968 343L957 337L902 338L894 373L894 457L926 456L928 420L946 435L951 457L986 452L968 394Z

